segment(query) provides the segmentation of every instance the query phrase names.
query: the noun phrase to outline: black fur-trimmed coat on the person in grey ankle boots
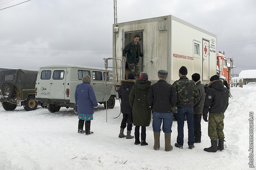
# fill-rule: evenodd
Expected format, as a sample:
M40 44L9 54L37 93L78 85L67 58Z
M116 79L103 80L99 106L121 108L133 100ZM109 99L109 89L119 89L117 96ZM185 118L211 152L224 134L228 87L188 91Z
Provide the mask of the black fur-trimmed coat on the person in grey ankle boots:
M135 80L121 80L122 82L119 90L118 97L121 98L121 112L123 114L131 114L132 108L129 104L129 94L134 86Z

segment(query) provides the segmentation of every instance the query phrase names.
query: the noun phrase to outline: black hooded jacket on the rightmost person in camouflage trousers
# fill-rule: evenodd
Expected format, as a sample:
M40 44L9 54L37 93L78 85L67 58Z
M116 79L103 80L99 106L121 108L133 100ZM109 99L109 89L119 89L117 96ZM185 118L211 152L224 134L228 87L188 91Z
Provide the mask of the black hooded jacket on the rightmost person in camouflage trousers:
M221 80L210 82L206 92L203 114L225 112L228 107L228 89Z

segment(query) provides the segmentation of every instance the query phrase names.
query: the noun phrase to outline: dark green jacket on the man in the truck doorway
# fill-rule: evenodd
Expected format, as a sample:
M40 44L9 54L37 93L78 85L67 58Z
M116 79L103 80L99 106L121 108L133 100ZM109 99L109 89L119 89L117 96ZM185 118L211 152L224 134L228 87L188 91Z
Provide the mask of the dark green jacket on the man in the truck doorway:
M123 49L123 56L127 53L127 63L135 64L140 61L140 57L143 57L143 54L140 51L140 43L138 42L138 58L136 58L136 48L134 42L129 42Z

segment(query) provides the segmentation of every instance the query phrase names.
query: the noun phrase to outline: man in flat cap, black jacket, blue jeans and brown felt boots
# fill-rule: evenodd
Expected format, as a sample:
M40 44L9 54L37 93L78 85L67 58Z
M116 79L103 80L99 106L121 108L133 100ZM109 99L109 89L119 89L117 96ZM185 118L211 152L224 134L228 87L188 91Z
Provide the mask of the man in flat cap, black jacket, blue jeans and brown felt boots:
M172 106L177 101L177 94L171 84L166 82L168 72L158 71L159 81L153 84L147 96L147 102L153 109L152 127L154 131L154 150L160 148L160 131L163 120L163 132L165 133L165 151L171 151L172 132Z

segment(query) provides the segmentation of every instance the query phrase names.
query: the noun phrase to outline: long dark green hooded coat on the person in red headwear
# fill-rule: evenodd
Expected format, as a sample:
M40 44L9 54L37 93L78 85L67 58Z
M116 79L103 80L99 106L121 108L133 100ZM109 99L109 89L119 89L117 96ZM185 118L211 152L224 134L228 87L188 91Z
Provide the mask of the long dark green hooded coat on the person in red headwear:
M151 108L147 103L147 95L151 87L151 81L136 79L130 95L129 103L133 109L133 125L149 126L151 121Z

